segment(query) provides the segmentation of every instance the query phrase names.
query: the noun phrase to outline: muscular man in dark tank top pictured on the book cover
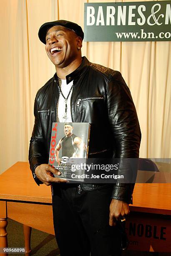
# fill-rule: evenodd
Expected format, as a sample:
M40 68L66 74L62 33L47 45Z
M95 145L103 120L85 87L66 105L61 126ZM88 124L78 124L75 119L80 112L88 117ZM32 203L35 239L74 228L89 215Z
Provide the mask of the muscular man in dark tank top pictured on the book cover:
M71 157L84 158L86 150L85 143L80 137L73 134L72 123L65 123L64 134L65 136L59 140L58 145L55 148L55 157L58 164L60 164L60 161L65 162L65 159ZM61 159L59 159L60 149L62 151Z

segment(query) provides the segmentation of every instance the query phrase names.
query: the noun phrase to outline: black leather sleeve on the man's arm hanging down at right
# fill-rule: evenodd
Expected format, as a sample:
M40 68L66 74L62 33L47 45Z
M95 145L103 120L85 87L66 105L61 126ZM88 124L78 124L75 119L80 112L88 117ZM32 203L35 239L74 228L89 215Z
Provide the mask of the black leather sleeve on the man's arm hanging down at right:
M138 117L130 90L118 71L113 72L108 83L107 109L113 146L116 146L115 158L138 158L141 142ZM134 184L118 182L113 187L112 198L132 203L133 188Z

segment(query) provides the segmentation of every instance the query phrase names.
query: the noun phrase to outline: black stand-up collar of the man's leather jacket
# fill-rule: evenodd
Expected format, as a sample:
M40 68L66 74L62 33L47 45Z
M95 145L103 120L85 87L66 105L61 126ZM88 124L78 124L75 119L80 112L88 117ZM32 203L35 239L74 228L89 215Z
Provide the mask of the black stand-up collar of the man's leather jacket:
M80 66L77 69L75 69L72 73L66 76L66 83L69 84L71 81L76 80L78 79L78 77L82 76L90 67L90 64L91 62L88 61L88 59L85 56L82 57L82 62ZM54 74L54 79L55 81L58 81L58 76L56 73Z

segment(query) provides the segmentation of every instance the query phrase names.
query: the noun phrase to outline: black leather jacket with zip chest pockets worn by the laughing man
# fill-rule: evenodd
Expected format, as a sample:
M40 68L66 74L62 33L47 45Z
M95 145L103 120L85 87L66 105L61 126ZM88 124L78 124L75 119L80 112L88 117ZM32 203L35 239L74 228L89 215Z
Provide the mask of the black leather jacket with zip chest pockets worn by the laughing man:
M105 154L114 158L138 158L141 131L130 90L121 73L93 64L83 57L80 67L66 76L67 84L72 80L72 120L91 123L89 157L104 157ZM35 125L29 149L32 171L37 165L48 163L52 123L57 120L57 82L55 74L38 90L35 97ZM37 184L41 183L35 175L33 177ZM106 185L80 186L85 191ZM112 198L132 202L134 184L112 186Z

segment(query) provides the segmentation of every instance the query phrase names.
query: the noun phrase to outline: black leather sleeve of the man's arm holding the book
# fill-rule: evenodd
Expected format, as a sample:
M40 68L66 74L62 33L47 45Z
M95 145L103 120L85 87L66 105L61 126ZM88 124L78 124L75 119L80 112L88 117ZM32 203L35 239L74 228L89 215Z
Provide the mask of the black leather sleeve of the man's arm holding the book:
M35 175L34 171L35 168L44 163L44 157L43 157L43 136L42 136L42 130L40 125L40 120L38 116L38 103L37 103L37 97L35 98L35 104L34 104L34 115L35 115L35 124L33 128L33 133L30 140L30 148L29 148L29 163L30 163L30 169L33 174L33 178L35 182L39 184L43 184Z

